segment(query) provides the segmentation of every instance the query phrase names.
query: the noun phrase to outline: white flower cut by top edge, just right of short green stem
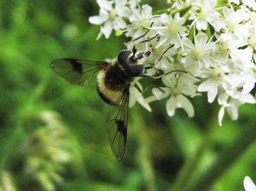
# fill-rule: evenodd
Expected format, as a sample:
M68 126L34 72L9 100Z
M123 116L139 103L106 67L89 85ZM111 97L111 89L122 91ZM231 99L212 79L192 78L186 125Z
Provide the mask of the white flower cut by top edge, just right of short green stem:
M206 30L208 23L217 31L222 27L218 10L215 9L217 0L196 0L191 3L193 8L189 10L191 14L189 20L194 20L196 29Z

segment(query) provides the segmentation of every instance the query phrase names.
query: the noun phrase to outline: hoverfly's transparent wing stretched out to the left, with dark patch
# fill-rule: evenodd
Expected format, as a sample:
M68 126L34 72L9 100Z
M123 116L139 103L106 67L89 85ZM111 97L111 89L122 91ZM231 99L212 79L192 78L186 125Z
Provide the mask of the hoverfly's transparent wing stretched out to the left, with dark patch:
M50 63L54 72L68 82L84 85L84 81L108 66L106 61L84 61L79 59L57 59Z

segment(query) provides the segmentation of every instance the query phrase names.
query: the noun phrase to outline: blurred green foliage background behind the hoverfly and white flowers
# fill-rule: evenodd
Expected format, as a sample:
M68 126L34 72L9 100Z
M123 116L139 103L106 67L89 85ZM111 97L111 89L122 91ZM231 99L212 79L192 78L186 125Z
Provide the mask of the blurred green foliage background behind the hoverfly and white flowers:
M164 1L166 2L166 1ZM165 3L143 1L155 10ZM130 109L125 157L117 162L105 121L111 107L49 68L57 58L113 58L124 37L96 41L95 1L0 2L0 191L243 190L256 182L255 106L218 126L218 105L195 97L195 117Z

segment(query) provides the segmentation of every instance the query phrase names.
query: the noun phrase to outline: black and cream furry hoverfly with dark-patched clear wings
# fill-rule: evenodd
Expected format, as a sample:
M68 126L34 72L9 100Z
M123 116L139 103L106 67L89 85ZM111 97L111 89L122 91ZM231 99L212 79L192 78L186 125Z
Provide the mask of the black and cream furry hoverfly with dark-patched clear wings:
M108 139L114 155L120 161L124 157L127 139L128 102L131 84L137 77L149 77L144 74L143 63L151 52L137 52L124 49L113 61L84 61L63 58L50 63L54 72L72 84L84 85L84 82L97 73L96 90L102 100L115 106L108 116ZM137 84L135 87L139 89Z

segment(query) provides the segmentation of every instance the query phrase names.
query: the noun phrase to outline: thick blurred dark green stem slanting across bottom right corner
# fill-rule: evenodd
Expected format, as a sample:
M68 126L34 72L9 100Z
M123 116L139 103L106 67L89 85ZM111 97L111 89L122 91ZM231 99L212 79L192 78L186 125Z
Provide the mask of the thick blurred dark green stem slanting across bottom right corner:
M188 191L207 190L211 188L212 183L215 182L220 175L224 174L228 168L236 162L241 153L255 142L256 128L251 122L240 136L236 137L236 140L232 142L222 153L219 154L218 159L206 170L201 176L197 177L194 182L189 184L186 189Z

